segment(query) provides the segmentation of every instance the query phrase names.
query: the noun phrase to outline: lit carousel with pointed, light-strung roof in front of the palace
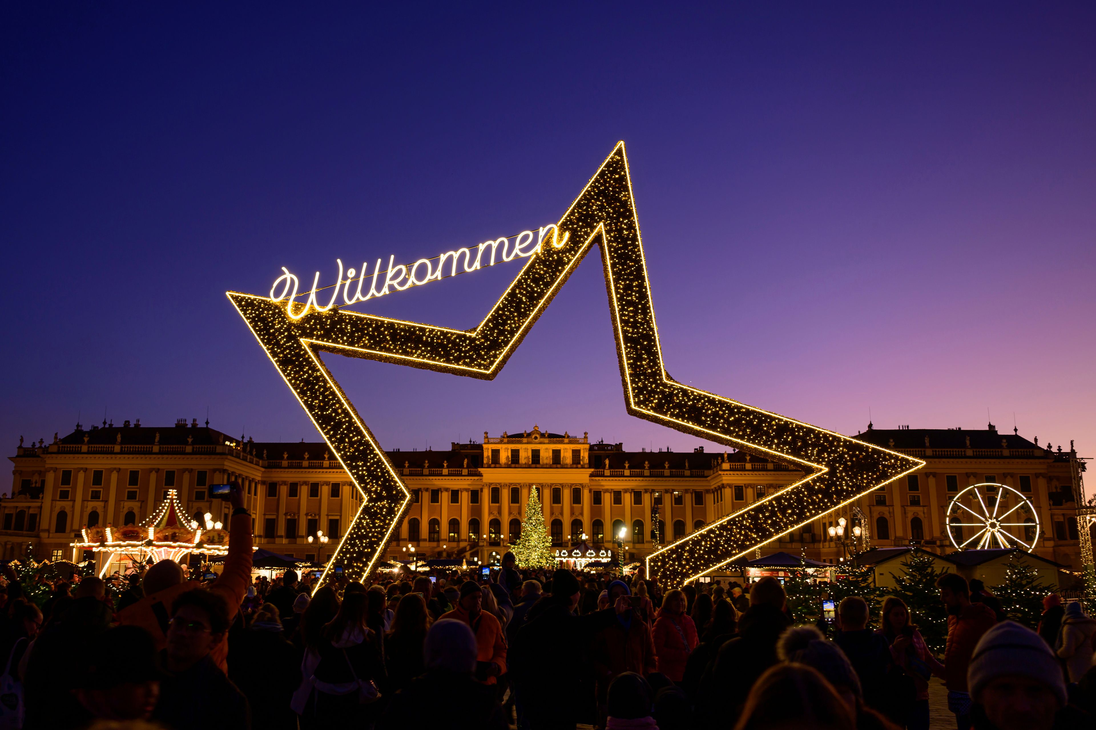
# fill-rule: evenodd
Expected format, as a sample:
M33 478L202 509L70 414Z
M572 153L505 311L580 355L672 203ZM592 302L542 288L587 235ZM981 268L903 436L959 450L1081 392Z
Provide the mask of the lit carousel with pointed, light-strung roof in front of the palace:
M80 542L71 543L77 554L92 551L95 571L102 577L117 570L125 573L139 565L174 560L183 563L187 555L220 556L228 554L228 531L206 513L204 524L187 519L179 495L168 489L167 498L140 525L122 528L84 526Z

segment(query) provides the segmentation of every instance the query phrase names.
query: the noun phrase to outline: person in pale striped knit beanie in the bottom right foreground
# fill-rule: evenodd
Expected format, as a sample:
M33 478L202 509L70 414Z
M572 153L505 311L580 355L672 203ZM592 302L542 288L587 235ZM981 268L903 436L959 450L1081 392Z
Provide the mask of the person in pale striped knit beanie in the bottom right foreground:
M1064 710L1065 680L1047 642L1005 621L979 640L967 669L979 730L1057 730L1082 727L1077 710Z

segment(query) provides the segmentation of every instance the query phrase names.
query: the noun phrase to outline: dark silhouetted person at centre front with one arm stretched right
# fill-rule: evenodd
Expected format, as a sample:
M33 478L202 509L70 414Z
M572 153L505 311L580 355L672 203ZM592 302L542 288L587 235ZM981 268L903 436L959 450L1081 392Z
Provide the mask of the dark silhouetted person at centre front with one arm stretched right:
M598 631L617 621L617 613L631 610L628 599L620 596L609 609L576 615L579 580L560 569L551 583L551 594L529 609L510 652L511 677L533 730L573 728L581 717L593 714L589 647Z

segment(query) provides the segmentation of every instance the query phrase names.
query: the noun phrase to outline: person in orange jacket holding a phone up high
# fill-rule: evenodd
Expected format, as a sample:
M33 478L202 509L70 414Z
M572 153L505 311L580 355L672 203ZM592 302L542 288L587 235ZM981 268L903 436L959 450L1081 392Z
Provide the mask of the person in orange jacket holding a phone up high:
M229 500L232 505L232 517L228 530L228 555L225 558L225 569L207 590L219 595L228 606L228 621L231 624L240 611L240 604L251 586L251 515L243 507L243 489L238 482L231 484ZM168 621L171 606L183 593L203 587L197 580L186 580L182 566L174 560L160 560L145 572L141 588L145 592L137 603L118 612L117 619L122 625L140 626L151 634L158 649L168 642ZM225 641L213 648L214 662L224 672L227 670L228 644Z

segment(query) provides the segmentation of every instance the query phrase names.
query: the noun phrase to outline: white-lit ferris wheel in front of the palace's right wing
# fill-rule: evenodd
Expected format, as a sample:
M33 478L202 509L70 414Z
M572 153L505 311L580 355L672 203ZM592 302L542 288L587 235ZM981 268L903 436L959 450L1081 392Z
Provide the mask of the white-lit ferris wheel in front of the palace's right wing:
M975 484L952 497L947 524L948 538L959 551L994 547L996 543L1004 548L1018 545L1030 553L1039 540L1039 513L1031 500L1003 484Z

